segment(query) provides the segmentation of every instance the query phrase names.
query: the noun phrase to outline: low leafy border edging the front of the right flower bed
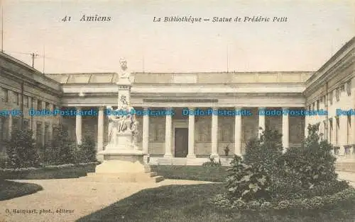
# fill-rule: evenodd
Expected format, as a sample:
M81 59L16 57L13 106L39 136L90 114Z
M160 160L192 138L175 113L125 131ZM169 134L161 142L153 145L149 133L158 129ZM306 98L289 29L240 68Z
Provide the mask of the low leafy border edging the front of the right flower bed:
M349 202L355 204L355 189L353 187L344 189L332 195L323 197L312 197L305 199L290 199L283 201L249 201L241 199L229 200L227 194L218 194L211 199L212 204L219 208L264 211L264 210L283 210L283 209L323 209L337 206L340 202Z

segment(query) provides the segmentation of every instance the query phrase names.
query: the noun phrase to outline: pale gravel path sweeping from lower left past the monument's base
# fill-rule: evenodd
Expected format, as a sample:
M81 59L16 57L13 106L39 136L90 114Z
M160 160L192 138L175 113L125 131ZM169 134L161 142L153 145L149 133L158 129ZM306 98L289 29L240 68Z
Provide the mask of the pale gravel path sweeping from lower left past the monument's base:
M0 221L75 221L142 189L165 185L210 183L163 180L158 183L92 182L85 177L58 180L13 180L31 182L43 190L24 197L0 201ZM14 210L18 210L14 212Z

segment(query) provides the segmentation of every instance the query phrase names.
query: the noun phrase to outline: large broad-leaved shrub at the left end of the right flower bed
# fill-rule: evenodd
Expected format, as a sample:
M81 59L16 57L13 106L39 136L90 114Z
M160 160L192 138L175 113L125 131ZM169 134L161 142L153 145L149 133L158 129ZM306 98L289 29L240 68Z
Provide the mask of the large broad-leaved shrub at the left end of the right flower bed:
M228 170L226 188L231 199L244 201L269 199L270 177L263 165L259 163L247 165L241 157L235 155Z

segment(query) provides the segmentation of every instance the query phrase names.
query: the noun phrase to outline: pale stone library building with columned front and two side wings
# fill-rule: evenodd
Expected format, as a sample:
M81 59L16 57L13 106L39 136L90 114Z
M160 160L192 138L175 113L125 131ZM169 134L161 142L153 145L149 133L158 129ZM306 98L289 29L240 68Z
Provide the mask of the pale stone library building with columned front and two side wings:
M338 160L355 163L354 46L355 38L318 71L132 73L131 105L151 114L137 115L138 149L149 154L152 164L200 165L209 157L227 163L226 146L229 156L243 155L246 142L261 128L278 129L288 148L300 146L307 124L319 122L324 139L339 146L334 152ZM73 141L80 144L90 136L98 151L104 150L107 107L117 105L116 73L44 75L6 54L0 54L0 62L1 110L23 110L39 144L62 122ZM32 107L87 115L33 117L28 115ZM337 109L344 115L337 115ZM345 113L351 109L352 115ZM259 115L261 110L283 115ZM315 110L327 115L297 115ZM1 116L1 139L9 138L16 118Z

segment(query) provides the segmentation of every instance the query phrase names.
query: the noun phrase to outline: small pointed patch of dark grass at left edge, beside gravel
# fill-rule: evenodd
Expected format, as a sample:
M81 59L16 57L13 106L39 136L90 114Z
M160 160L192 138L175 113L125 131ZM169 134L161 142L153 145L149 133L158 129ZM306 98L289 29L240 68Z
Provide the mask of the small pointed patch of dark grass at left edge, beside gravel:
M40 185L32 183L0 180L0 201L33 194L42 189Z

